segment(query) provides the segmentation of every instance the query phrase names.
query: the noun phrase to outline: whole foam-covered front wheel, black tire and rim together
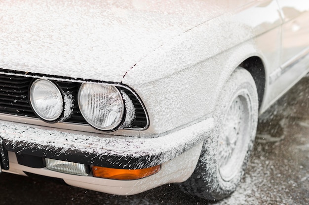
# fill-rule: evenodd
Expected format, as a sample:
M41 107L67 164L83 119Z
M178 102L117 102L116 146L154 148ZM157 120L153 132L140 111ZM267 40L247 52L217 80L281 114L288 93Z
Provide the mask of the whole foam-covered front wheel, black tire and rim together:
M205 139L192 176L180 187L186 193L220 200L236 189L254 144L258 94L251 74L236 68L218 97L215 129Z

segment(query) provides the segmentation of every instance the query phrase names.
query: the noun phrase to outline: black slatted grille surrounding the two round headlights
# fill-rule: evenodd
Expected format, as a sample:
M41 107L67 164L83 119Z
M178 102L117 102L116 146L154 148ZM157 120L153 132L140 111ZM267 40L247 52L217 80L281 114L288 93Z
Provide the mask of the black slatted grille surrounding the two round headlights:
M37 79L37 77L31 77L31 75L39 76L39 74L27 73L27 75L25 75L24 72L16 72L2 69L0 69L0 72L0 113L15 116L39 118L32 110L29 99L29 87L31 83ZM46 75L44 75L44 77L46 77ZM47 77L59 78L58 76ZM77 105L77 92L82 82L71 82L69 80L55 80L53 82L55 82L64 92L69 91L74 96L73 114L70 118L66 119L65 122L88 124L86 120L82 117ZM117 88L123 90L131 98L136 110L136 117L131 123L130 128L146 128L148 125L147 116L142 104L140 103L136 95L134 95L130 90L126 88Z

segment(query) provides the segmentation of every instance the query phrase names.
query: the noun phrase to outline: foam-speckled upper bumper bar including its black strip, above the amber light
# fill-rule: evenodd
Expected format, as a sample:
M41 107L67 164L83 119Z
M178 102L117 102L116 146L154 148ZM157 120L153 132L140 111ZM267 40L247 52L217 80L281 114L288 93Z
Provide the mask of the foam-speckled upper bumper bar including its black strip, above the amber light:
M167 162L209 136L208 118L157 138L87 136L0 121L0 137L6 150L86 165L143 169Z

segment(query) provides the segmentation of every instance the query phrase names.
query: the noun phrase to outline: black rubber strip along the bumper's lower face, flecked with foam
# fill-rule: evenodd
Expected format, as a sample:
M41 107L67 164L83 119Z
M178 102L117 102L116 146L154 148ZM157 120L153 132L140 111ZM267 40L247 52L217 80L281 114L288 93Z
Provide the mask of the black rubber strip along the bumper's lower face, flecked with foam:
M75 149L42 146L35 143L10 142L8 140L3 140L3 145L8 151L18 152L19 154L116 169L145 169L154 167L160 165L162 157L161 154L149 155L147 153L139 156L129 155L124 157L123 155L97 154ZM128 165L130 165L129 168Z

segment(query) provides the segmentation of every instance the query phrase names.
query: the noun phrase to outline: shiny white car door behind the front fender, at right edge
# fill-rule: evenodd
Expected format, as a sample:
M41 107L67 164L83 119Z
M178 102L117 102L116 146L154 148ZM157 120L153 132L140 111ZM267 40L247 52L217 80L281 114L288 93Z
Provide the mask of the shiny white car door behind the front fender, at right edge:
M272 104L309 72L309 1L277 0L282 18L280 67L270 73Z

